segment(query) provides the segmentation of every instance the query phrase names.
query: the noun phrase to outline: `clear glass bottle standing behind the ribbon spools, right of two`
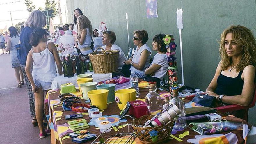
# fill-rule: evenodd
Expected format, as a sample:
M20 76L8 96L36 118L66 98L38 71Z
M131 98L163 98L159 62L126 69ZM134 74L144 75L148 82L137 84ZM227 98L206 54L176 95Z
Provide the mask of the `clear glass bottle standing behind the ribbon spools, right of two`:
M178 94L179 87L171 87L171 90L172 90L173 98L169 101L169 104L171 106L176 105L181 111L181 114L179 114L176 118L174 118L174 121L175 121L174 128L175 129L186 128L188 126L186 121L186 109L185 109L184 102L181 99L179 99L179 94Z

